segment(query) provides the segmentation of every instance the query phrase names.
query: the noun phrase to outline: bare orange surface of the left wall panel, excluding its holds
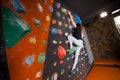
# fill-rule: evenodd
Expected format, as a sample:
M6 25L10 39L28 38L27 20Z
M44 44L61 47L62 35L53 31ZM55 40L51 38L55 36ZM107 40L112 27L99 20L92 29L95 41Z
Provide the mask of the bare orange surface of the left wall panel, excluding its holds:
M49 11L49 6L53 6L54 2L53 0L46 1L44 3L42 0L19 0L26 11L25 14L15 12L12 6L12 0L1 1L1 6L8 7L31 27L31 32L20 42L12 48L6 48L11 80L42 80L44 62L38 63L38 56L41 53L46 53L47 45L42 45L42 41L45 40L47 42L48 40L49 32L45 32L44 30L49 31L50 21L46 21L46 16L51 18L52 13ZM38 9L38 3L43 7L42 13ZM35 26L34 19L38 19L41 22L39 28ZM36 42L30 42L31 38L35 38ZM29 56L32 56L33 62L27 65L25 61ZM40 74L39 77L36 76L37 73Z

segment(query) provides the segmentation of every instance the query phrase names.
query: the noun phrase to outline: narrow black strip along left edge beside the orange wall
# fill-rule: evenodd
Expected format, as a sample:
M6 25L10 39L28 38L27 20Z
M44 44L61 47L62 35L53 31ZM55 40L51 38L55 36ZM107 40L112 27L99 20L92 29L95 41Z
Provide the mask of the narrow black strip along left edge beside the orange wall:
M0 80L9 80L9 71L7 66L2 27L0 27Z

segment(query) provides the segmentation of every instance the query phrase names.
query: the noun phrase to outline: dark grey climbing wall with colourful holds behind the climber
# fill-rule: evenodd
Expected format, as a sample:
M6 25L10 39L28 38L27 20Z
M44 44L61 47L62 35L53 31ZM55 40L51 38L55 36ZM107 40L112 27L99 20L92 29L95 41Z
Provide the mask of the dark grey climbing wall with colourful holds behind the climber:
M74 51L69 50L67 40L67 36L72 35L72 25L67 15L70 9L60 1L54 2L53 9L43 80L84 80L91 69L85 46L80 51L77 67L71 71Z

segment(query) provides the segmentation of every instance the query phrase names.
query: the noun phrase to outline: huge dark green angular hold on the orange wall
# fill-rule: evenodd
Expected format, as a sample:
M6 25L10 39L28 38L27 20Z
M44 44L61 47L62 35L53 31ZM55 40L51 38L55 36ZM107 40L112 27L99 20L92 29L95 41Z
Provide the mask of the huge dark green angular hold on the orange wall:
M12 48L30 33L31 28L9 8L2 7L1 10L5 45Z

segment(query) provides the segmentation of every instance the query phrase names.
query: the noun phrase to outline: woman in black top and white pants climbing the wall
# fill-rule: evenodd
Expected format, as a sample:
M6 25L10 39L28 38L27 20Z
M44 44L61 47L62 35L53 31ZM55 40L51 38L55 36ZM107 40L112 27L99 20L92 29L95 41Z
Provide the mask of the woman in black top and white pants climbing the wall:
M68 35L70 50L73 50L73 44L76 45L74 63L72 66L72 70L74 70L76 68L77 63L78 63L80 50L83 47L82 32L81 32L82 26L81 26L81 20L80 20L78 15L75 15L75 21L73 20L70 11L68 11L68 15L69 15L70 22L71 22L72 28L73 28L72 35Z

